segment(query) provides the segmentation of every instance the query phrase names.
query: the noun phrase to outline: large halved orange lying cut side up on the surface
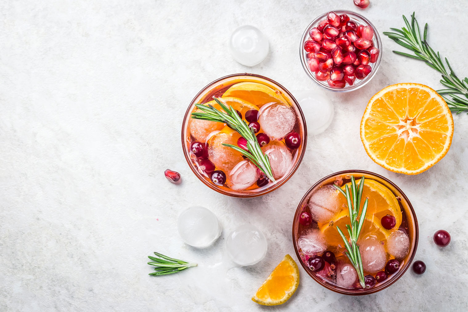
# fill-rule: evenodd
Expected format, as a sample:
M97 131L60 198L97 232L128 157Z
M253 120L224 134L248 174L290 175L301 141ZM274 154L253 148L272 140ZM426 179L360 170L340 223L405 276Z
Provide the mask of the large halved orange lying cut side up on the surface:
M383 88L367 104L361 141L380 166L402 174L420 174L447 153L453 117L432 88L399 83Z

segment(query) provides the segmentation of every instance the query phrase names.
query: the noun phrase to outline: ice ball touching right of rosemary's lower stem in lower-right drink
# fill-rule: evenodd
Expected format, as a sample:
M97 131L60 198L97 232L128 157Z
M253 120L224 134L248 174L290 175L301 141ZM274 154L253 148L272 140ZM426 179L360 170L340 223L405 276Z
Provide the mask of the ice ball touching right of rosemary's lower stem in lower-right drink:
M372 236L358 242L361 253L362 268L369 273L377 273L387 263L387 253L380 240Z

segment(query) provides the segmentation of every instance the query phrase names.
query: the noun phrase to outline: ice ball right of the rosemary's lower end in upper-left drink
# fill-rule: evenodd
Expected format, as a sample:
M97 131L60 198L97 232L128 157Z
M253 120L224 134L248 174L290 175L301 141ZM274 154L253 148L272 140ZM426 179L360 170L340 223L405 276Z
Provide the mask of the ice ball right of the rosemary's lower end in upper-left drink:
M281 141L270 141L269 144L262 147L262 152L270 160L273 177L279 179L283 177L292 164L292 155L286 145Z

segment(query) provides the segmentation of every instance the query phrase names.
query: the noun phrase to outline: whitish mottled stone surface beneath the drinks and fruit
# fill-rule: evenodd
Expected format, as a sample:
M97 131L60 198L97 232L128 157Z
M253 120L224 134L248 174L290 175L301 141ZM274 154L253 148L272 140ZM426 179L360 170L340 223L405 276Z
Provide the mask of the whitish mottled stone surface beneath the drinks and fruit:
M416 10L420 22L430 22L431 45L468 75L465 0L371 2L360 11L352 0L2 1L0 310L466 311L468 116L454 116L450 151L417 176L374 164L359 140L366 103L382 87L441 87L434 70L392 54L397 46L388 38L373 81L326 94L333 122L309 137L299 170L274 193L222 196L195 178L181 151L183 113L212 80L250 72L290 90L318 90L300 65L299 41L329 9L362 12L380 32L403 26L401 15ZM271 47L251 68L228 54L229 34L243 24L262 29ZM169 183L166 168L179 171L183 183ZM426 273L408 271L386 290L349 297L325 290L300 268L300 287L287 304L253 303L278 261L285 254L296 259L291 222L305 191L351 168L382 174L409 196L419 220L416 259ZM189 247L177 234L179 212L196 204L215 212L224 228L212 247ZM266 258L227 273L210 267L221 261L227 233L242 223L263 230ZM443 250L431 238L440 228L452 234ZM146 256L153 251L200 265L151 277Z

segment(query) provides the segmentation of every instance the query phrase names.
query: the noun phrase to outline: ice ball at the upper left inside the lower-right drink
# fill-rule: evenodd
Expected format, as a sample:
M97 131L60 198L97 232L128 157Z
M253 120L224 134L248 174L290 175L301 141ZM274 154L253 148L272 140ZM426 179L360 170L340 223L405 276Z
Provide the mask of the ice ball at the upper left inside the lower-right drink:
M333 219L343 208L344 200L340 196L341 193L331 185L317 189L309 199L312 218L318 223Z

